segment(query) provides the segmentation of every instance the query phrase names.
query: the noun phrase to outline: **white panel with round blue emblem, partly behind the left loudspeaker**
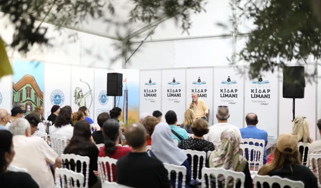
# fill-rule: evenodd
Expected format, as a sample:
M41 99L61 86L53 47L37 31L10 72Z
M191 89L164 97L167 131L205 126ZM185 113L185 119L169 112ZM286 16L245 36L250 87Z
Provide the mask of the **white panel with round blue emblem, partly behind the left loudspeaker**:
M107 73L113 70L95 69L95 97L94 97L94 122L102 112L109 112L113 108L113 98L107 96Z

